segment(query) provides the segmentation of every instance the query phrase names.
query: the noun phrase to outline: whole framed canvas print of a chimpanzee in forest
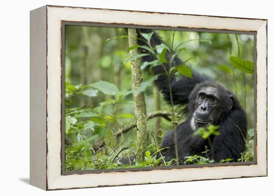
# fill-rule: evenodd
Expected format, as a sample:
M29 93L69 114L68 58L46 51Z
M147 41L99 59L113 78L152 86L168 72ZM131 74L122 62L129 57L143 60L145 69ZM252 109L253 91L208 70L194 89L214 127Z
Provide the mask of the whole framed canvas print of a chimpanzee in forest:
M30 12L30 184L267 176L267 20Z

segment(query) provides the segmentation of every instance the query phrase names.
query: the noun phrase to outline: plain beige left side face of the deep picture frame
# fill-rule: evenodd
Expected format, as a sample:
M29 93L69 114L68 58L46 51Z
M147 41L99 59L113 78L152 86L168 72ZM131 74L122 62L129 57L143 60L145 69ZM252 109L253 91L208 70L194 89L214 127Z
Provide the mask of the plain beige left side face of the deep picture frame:
M46 6L30 11L30 185L46 190Z

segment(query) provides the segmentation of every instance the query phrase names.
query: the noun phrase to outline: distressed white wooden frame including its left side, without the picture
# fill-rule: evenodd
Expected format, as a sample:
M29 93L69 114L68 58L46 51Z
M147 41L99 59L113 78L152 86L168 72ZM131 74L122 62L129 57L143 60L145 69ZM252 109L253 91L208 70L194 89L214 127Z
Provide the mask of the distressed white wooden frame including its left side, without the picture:
M64 22L252 32L256 38L256 160L167 169L62 172ZM267 176L267 20L46 5L30 11L30 184L43 190Z

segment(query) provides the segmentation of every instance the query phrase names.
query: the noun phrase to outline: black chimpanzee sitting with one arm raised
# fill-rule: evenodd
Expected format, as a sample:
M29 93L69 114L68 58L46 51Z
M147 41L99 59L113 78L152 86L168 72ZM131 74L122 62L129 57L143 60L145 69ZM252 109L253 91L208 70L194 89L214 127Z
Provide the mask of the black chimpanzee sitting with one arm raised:
M138 44L146 45L147 43L143 41L144 37L141 34L151 32L153 32L150 39L152 47L163 43L155 31L137 29ZM148 54L142 57L143 62L155 60L155 56L145 48L140 48L140 53ZM165 56L167 61L169 61L171 58L170 52L167 51ZM182 61L175 57L171 65L178 66L181 63ZM165 67L169 69L167 64ZM170 104L169 84L163 67L160 65L153 67L152 73L159 74L154 83L163 94L165 101ZM175 76L172 76L171 92L175 105L187 105L186 120L176 127L180 164L184 164L186 156L205 156L202 154L206 151L205 146L212 146L212 149L208 148L210 149L208 156L213 156L216 163L228 158L237 161L241 157L241 153L245 151L247 117L237 97L231 90L192 70L192 78L180 76L179 79L176 79ZM200 135L193 135L198 128L206 128L210 124L218 125L220 133L217 136L210 136L211 144L209 144L209 140L203 139ZM164 135L160 148L165 148L162 152L165 161L175 158L174 134L172 130Z

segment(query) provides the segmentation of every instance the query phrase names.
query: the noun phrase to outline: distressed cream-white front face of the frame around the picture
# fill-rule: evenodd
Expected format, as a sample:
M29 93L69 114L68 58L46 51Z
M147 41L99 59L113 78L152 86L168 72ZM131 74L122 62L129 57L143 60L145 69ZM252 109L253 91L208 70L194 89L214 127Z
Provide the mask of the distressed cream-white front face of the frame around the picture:
M149 26L257 31L257 164L171 170L61 175L62 20ZM267 175L267 21L183 14L47 6L47 186L48 190L165 183Z

